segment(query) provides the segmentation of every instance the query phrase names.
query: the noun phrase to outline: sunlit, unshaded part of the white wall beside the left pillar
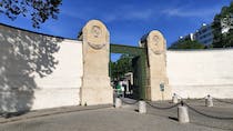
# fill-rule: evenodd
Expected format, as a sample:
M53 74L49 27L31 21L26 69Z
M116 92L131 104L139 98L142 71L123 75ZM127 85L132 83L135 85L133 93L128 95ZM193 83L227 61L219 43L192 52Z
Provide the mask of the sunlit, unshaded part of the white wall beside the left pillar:
M60 50L54 53L59 62L53 72L44 78L37 75L32 109L79 105L82 66L82 43L64 40L58 43Z

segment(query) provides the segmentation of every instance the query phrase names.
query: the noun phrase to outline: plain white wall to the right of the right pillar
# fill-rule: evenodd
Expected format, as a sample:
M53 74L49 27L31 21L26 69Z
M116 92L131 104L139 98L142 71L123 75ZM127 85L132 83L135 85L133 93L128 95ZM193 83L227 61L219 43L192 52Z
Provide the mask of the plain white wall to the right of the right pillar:
M233 98L233 49L168 51L172 92L183 98Z

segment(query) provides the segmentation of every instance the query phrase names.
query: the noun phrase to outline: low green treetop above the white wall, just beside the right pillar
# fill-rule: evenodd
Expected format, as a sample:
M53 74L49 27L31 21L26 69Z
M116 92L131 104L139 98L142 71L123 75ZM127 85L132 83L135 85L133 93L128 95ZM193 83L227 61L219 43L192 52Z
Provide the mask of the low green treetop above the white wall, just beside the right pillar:
M178 43L172 44L169 49L204 49L205 46L197 41L181 40Z

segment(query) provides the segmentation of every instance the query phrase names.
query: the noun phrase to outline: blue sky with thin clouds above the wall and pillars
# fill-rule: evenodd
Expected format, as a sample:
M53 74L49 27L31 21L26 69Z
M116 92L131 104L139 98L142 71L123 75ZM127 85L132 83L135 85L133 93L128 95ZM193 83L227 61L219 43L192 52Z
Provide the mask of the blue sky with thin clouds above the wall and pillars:
M180 36L195 31L231 0L63 0L58 20L49 20L33 29L29 19L11 21L0 16L0 22L36 32L75 39L91 19L102 20L112 43L138 46L151 30L160 30L168 47Z

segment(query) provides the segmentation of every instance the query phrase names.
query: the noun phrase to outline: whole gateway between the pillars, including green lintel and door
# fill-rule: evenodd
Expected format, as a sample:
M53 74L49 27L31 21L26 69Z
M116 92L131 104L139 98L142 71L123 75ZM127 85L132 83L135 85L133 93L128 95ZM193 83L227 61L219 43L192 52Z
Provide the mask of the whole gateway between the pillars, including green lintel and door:
M146 51L144 48L110 44L110 77L115 94L146 99ZM120 88L122 88L120 90Z

